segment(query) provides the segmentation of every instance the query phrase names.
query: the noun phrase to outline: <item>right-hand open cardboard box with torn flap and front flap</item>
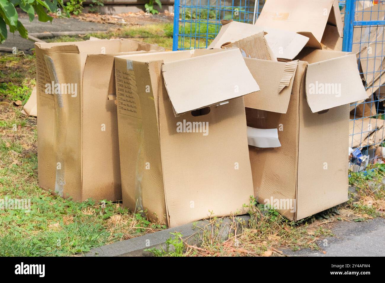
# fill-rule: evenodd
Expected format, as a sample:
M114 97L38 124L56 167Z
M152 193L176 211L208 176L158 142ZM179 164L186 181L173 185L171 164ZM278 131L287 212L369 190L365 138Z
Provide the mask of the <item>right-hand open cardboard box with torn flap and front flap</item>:
M292 71L296 61L244 58L261 88L245 96L247 126L278 129L281 144L249 146L254 194L291 220L348 199L349 104L367 98L354 54L312 49L298 59Z

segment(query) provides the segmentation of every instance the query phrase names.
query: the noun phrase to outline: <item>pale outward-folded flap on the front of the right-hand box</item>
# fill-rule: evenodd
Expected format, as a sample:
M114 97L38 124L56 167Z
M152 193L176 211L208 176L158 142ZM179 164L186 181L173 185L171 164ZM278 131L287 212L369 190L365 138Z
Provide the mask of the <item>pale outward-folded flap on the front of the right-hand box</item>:
M309 64L305 82L313 113L368 98L354 54Z

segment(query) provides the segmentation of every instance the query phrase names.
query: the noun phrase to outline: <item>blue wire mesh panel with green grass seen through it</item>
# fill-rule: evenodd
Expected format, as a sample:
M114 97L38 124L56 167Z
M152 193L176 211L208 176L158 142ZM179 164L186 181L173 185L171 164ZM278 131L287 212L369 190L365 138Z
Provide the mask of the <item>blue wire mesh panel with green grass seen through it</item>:
M221 20L253 23L265 0L176 0L173 50L206 48L221 28Z

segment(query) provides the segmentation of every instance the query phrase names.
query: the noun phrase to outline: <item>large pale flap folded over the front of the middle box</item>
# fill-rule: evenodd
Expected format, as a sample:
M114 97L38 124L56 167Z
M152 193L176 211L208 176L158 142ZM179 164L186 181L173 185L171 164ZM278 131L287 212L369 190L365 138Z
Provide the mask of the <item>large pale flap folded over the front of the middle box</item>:
M239 49L164 63L162 74L176 114L259 90Z

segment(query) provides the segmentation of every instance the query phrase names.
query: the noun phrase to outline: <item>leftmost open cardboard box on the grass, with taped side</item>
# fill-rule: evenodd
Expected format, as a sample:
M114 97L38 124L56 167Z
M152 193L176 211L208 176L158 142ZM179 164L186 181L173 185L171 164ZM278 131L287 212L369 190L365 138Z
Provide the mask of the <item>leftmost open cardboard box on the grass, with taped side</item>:
M75 201L121 199L114 55L135 40L35 43L39 186Z

